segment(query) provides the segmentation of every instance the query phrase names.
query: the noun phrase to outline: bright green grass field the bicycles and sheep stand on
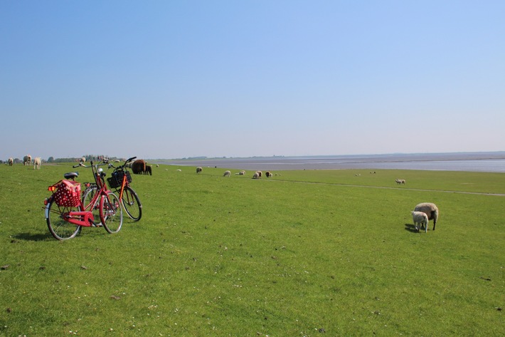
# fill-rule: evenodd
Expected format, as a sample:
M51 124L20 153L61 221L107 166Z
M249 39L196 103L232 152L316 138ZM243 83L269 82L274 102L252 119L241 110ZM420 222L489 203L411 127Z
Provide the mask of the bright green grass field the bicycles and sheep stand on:
M58 242L43 200L72 170L0 166L0 336L505 334L504 174L160 165L140 222Z

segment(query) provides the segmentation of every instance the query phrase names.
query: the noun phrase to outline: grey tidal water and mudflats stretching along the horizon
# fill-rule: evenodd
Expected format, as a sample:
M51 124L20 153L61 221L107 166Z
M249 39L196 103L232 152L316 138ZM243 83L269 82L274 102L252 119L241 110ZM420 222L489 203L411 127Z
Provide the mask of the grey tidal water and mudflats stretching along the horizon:
M151 160L170 165L225 167L237 170L437 170L505 172L505 152L458 152L392 155L212 158Z

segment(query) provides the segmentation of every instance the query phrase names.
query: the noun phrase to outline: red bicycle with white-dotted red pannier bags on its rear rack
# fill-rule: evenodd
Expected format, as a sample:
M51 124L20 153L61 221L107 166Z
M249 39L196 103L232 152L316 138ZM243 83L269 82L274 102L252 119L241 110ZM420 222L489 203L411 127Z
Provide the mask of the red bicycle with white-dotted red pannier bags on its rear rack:
M82 227L104 227L110 234L117 233L122 227L123 212L119 198L107 189L105 172L99 166L84 164L73 167L91 167L97 193L89 203L80 196L80 182L75 182L79 172L68 172L64 180L50 185L48 190L53 194L44 200L46 222L50 234L58 240L72 239L80 233ZM100 222L98 222L100 221Z

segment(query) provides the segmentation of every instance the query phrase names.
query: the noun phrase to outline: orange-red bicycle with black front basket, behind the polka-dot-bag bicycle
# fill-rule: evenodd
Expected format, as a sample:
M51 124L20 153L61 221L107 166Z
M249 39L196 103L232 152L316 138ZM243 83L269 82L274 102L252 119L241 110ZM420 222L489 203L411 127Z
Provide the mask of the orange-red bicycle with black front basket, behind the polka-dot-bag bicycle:
M127 213L128 217L134 221L139 221L142 217L142 203L140 202L139 195L135 192L129 183L132 182L132 175L127 170L127 164L132 162L137 157L131 157L124 161L123 165L115 167L109 164L109 168L113 168L111 177L107 178L107 183L111 189L119 193L119 200L121 200L122 207ZM92 199L97 193L97 185L89 185L83 192L83 202L86 199Z

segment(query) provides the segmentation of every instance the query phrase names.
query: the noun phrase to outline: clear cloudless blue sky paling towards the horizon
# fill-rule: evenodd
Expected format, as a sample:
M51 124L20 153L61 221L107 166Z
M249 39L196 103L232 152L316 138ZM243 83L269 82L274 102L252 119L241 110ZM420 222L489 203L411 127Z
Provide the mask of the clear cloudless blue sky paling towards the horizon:
M0 1L0 159L505 150L505 1Z

